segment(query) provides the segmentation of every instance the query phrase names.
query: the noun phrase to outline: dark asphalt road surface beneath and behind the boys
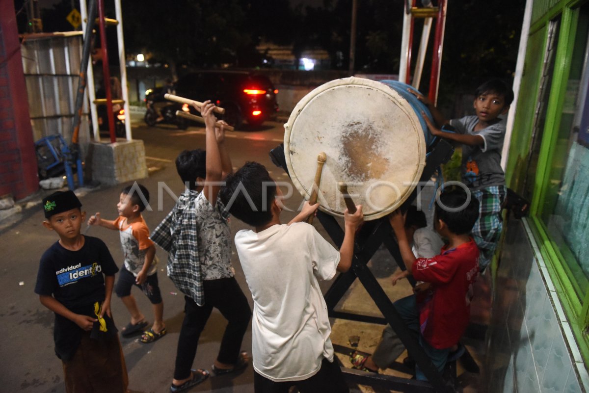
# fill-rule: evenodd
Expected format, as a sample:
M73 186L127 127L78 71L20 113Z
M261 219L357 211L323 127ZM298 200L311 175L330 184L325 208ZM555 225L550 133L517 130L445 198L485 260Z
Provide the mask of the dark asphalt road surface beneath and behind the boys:
M135 116L137 117L137 116ZM259 161L270 170L274 179L288 181L281 168L269 158L269 151L283 140L282 123L268 122L257 129L246 129L228 133L227 146L233 165L239 167L246 161ZM179 195L183 184L178 178L174 159L183 149L204 148L204 128L190 127L180 131L173 126L148 127L135 119L133 138L142 139L150 176L141 179L151 194L153 211L145 211L147 225L155 226L170 211L174 204L171 194ZM128 183L131 184L131 183ZM82 209L88 215L100 211L102 217L114 219L120 189L128 184L110 188L98 188L81 196ZM302 198L294 191L287 207L296 209ZM284 212L284 221L294 213ZM87 216L88 217L88 216ZM61 361L54 354L52 339L53 314L42 307L34 294L39 258L57 236L42 227L40 205L29 208L16 224L0 232L0 244L4 263L0 268L0 392L62 393L65 391ZM244 224L233 219L231 231L244 228ZM110 248L117 261L122 262L118 233L105 228L92 227L88 235L100 237ZM171 383L174 357L180 324L183 319L183 297L166 277L167 256L158 249L161 262L158 268L161 291L164 298L164 319L168 334L157 342L142 344L138 337L121 338L127 362L131 392L166 392ZM233 266L236 277L247 297L251 295L243 272L234 254ZM327 284L326 284L327 285ZM141 292L133 290L141 311L148 321L153 321L151 307ZM127 324L129 315L123 303L113 295L112 312L120 329ZM214 311L206 329L201 335L194 367L210 370L210 365L219 350L221 335L226 322L219 312ZM246 333L243 349L251 351L251 331ZM237 375L211 377L191 392L253 392L253 368L250 366Z

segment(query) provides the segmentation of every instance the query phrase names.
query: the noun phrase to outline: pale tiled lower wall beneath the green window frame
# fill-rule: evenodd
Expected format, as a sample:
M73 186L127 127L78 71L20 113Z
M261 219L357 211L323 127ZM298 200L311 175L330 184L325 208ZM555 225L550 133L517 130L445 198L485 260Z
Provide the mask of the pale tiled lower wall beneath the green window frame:
M575 346L567 347L570 328L555 311L534 241L523 222L507 227L489 327L489 392L584 392L583 363L575 362Z

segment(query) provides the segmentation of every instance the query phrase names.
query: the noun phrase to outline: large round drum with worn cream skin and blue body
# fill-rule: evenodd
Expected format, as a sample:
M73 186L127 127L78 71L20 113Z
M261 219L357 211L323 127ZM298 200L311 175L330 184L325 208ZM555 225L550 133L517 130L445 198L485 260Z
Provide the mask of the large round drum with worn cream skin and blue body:
M318 195L322 211L343 217L338 182L363 205L365 220L389 214L409 197L432 137L421 117L422 110L429 112L408 87L350 77L327 82L301 99L284 125L284 155L305 199L320 152L327 156Z

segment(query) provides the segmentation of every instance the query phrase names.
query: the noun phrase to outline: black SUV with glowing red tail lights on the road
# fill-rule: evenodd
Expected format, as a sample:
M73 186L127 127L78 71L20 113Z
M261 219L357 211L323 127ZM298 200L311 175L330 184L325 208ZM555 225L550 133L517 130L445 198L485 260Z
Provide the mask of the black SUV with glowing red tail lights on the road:
M203 102L207 99L225 109L224 121L239 128L243 121L261 125L278 111L272 82L249 71L198 71L184 75L176 84L177 95ZM194 108L191 108L194 112Z

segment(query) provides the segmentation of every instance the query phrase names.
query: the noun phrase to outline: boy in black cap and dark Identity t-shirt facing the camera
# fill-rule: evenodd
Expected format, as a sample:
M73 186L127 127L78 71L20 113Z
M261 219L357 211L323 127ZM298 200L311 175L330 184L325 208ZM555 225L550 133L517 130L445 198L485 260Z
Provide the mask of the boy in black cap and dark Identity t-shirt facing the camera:
M55 354L66 391L123 393L127 368L110 309L118 268L104 242L80 233L81 206L72 191L43 199L43 225L59 241L41 257L35 293L55 313Z

